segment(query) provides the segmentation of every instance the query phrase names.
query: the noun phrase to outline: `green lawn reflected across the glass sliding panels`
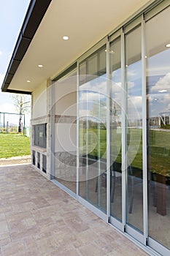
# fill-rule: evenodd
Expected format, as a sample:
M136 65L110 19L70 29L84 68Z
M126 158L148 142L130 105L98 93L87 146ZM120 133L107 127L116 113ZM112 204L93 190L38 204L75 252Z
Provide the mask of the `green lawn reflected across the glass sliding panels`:
M86 134L88 132L88 140ZM150 129L150 151L148 163L150 171L170 176L170 132ZM128 157L131 159L131 167L142 170L142 129L128 130ZM116 155L113 162L121 163L121 134L116 133L116 129L111 132L111 155ZM107 130L101 129L80 129L80 146L82 154L88 154L107 159ZM113 151L113 152L112 152ZM112 160L112 159L111 159Z

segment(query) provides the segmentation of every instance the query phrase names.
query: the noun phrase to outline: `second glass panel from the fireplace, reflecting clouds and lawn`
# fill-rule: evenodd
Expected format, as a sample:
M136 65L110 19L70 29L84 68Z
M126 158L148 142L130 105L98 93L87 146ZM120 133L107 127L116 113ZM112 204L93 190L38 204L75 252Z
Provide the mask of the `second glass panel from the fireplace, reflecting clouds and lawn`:
M81 64L79 89L80 196L104 212L107 210L105 49L98 50ZM85 71L82 67L87 67L86 78L82 78Z

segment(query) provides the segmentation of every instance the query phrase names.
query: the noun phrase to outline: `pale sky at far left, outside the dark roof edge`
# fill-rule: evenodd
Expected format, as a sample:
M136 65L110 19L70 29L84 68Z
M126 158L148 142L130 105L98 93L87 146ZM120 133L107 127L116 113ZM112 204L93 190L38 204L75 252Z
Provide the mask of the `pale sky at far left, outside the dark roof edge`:
M30 0L0 0L0 88ZM11 94L0 90L0 112L16 112Z

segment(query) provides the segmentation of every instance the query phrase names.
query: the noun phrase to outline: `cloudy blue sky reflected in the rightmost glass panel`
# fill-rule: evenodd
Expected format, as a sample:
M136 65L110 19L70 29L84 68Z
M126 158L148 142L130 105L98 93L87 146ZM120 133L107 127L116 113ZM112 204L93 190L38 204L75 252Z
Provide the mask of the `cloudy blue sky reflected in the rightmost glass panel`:
M170 49L147 59L147 86L150 117L170 110Z

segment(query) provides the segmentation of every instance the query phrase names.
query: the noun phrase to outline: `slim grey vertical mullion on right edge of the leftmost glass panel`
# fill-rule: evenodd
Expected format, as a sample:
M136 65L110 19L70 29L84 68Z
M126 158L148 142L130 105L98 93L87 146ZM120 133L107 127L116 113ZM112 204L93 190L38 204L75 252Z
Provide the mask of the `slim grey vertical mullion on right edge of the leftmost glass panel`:
M80 135L79 135L79 63L77 62L77 177L76 177L76 194L77 194L77 198L79 196L79 167L80 167L80 154L79 154L79 150L80 150Z

